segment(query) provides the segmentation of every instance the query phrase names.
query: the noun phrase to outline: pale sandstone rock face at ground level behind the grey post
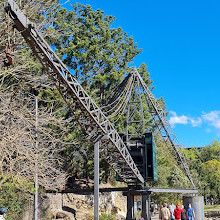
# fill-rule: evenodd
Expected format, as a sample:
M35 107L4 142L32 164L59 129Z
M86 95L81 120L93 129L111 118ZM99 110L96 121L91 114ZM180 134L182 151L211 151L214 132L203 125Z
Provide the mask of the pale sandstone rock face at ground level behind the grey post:
M48 215L51 219L88 219L93 216L93 195L78 195L74 193L48 194ZM100 193L100 213L116 214L125 217L126 198L119 192ZM50 214L49 214L50 213ZM59 213L59 214L58 214ZM62 217L62 213L69 214ZM59 217L59 218L58 218Z

